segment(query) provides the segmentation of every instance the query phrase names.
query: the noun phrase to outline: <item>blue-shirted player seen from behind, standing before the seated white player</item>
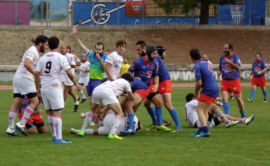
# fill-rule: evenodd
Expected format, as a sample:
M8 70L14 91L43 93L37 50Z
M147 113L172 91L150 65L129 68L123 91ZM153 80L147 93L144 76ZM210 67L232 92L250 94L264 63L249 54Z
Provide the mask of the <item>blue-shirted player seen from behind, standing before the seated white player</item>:
M215 73L207 61L202 60L200 56L200 51L197 48L190 50L190 58L195 63L193 67L193 72L196 78L195 85L195 99L198 98L197 114L201 127L195 134L190 136L194 137L210 137L210 132L208 130L206 120L208 119L208 108L212 102L218 97L218 85L215 80ZM200 95L199 90L202 88Z

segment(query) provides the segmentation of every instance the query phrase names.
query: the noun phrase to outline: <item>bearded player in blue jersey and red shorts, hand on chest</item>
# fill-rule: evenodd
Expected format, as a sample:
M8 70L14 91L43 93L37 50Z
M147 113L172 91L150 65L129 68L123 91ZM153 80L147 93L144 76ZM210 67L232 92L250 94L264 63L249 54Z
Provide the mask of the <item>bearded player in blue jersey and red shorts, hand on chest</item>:
M221 96L223 101L223 109L225 114L230 115L230 105L228 103L229 91L234 93L238 103L241 118L245 118L244 102L242 100L241 83L239 70L241 68L241 60L238 55L233 53L231 44L223 46L224 55L220 58L220 65L217 69L217 74L220 76L222 73L221 81Z

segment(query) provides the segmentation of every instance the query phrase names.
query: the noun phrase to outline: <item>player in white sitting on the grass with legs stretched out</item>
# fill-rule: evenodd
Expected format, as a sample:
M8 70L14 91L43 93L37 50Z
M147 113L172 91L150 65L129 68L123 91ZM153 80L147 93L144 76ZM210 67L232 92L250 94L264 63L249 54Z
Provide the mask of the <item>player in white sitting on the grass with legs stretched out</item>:
M186 120L191 127L199 128L201 125L198 118L198 114L196 112L198 100L194 98L194 94L190 93L186 95L186 101L187 101L187 104L185 105ZM213 117L214 114L217 116ZM242 119L223 114L217 105L211 104L210 107L208 108L207 126L215 127L221 124L222 122L225 123L227 128L236 125L237 123L244 123L245 125L249 125L253 121L253 119L254 115L252 115L249 118Z

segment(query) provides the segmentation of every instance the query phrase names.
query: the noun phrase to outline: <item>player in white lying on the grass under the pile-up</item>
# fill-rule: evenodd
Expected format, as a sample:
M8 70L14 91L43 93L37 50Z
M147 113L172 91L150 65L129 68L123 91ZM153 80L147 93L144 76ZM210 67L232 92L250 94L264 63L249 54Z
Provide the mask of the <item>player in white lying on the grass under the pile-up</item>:
M100 112L99 112L100 113ZM97 130L94 129L86 129L85 134L99 134L99 135L109 135L110 131L112 129L112 121L115 118L115 114L112 110L109 110L106 112L106 115L104 115L103 120L97 121ZM127 130L129 125L128 117L123 117L121 119L120 125L117 127L116 134L120 134L120 131ZM140 124L138 118L134 115L134 121L132 123L134 129L137 131L139 129L143 129L143 126ZM77 134L80 130L76 130L71 128L70 133L71 134Z

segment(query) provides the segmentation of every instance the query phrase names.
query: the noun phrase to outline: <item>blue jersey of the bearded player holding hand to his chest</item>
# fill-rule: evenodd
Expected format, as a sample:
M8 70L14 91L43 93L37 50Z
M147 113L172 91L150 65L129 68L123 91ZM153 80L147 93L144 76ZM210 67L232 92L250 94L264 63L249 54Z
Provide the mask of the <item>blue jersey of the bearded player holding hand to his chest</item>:
M239 78L239 70L235 70L229 63L224 62L224 58L228 58L231 62L241 66L241 60L238 55L234 53L229 56L222 55L219 64L219 67L222 69L222 79L229 81Z

